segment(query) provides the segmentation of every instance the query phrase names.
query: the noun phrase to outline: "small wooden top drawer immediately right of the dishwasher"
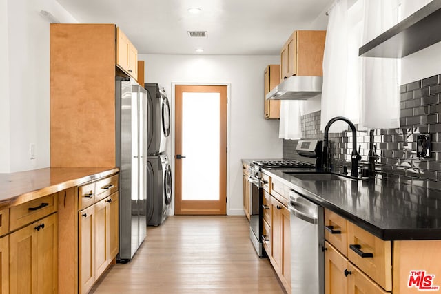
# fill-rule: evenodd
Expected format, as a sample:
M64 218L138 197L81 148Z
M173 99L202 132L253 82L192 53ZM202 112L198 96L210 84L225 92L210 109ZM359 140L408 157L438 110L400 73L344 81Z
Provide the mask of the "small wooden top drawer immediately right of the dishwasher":
M325 239L347 256L347 220L325 209Z

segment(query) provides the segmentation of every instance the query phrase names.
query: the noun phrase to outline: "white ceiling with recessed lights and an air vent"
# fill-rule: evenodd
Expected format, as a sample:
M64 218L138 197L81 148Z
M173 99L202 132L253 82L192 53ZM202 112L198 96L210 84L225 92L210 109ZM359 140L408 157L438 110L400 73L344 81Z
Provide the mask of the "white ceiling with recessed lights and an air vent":
M276 55L332 0L57 0L80 23L116 23L139 54ZM189 8L201 8L191 14ZM207 37L188 36L207 31ZM203 48L203 53L196 53Z

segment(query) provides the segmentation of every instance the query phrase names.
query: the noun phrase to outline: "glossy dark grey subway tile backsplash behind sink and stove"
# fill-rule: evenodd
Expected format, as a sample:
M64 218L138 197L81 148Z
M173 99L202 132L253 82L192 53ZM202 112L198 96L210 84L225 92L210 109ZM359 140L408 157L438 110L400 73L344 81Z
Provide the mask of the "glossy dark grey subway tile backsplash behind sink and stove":
M400 128L357 132L362 160L368 166L370 147L376 151L375 176L413 187L441 190L441 74L400 86ZM418 134L430 134L427 158L417 156ZM302 116L304 139L323 140L320 111ZM298 140L283 140L283 158L296 159ZM333 171L351 165L352 133L329 134Z

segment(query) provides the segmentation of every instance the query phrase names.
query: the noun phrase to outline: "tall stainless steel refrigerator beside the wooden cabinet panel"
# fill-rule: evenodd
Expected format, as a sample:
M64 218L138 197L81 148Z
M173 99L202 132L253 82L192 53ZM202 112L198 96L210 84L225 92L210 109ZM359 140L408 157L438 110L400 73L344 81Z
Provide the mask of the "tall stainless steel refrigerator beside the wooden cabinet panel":
M127 262L147 234L147 91L116 78L116 165L119 185L119 262Z

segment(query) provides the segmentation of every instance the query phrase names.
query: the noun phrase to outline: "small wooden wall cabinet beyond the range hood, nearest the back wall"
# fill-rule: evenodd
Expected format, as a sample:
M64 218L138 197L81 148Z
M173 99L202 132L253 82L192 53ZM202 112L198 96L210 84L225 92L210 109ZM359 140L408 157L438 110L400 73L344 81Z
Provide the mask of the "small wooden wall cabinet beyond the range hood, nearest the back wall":
M280 100L267 100L265 96L280 83L280 65L271 64L265 68L265 118L280 118Z

